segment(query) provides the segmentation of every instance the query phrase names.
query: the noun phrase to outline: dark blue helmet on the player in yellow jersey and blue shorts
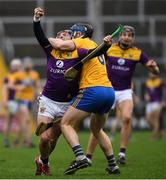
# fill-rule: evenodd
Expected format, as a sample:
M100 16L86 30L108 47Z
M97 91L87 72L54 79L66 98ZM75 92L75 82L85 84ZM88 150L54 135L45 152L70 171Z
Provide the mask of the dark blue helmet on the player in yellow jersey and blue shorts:
M76 36L77 32L81 33L82 38L92 37L93 34L93 27L90 24L83 24L83 23L78 23L74 24L70 30L72 31L73 37Z

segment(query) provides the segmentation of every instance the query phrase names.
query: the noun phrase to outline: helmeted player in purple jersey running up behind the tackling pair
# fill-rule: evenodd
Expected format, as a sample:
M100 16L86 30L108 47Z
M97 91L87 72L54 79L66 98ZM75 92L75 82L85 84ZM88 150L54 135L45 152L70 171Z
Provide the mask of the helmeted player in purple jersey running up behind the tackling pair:
M108 77L115 90L115 106L121 112L122 128L118 163L126 164L125 152L131 133L133 97L131 80L137 63L144 65L150 72L159 73L159 68L141 49L134 46L135 30L124 26L117 44L113 44L106 53ZM90 136L87 157L91 162L92 154L97 145L94 136Z

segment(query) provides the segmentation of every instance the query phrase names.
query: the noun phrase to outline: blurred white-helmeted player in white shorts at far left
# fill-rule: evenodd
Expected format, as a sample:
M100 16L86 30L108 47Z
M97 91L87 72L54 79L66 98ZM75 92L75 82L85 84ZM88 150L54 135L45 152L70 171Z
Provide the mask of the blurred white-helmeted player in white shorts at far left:
M13 59L10 63L10 70L4 79L2 87L2 101L3 106L7 110L7 118L4 130L4 146L10 147L9 134L11 130L12 120L16 117L18 113L18 103L15 99L16 90L10 87L11 82L15 73L21 70L21 60ZM17 117L18 118L18 117Z

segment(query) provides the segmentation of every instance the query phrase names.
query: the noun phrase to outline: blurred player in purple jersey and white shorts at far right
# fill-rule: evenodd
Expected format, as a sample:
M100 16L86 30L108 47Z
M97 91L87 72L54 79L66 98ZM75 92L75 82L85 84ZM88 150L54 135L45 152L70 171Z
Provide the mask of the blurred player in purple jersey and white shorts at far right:
M162 136L160 115L163 105L163 82L157 75L149 73L145 83L146 120L152 129L152 139Z

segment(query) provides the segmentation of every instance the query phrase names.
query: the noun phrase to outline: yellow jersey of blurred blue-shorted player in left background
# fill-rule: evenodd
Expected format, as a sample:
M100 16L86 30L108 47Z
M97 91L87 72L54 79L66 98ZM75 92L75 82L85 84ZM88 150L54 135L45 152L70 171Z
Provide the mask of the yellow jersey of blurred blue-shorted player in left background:
M33 101L35 85L39 80L38 72L31 70L29 72L20 71L14 76L16 84L23 85L24 88L16 92L16 99L24 101Z

